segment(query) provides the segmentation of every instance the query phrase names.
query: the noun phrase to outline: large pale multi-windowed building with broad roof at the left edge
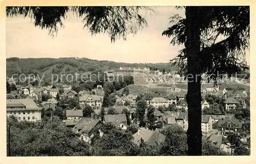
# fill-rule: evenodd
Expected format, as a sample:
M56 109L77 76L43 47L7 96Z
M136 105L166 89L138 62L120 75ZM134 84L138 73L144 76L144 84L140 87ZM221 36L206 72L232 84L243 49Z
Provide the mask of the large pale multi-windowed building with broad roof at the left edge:
M14 115L18 121L41 120L41 108L32 99L8 99L7 116Z

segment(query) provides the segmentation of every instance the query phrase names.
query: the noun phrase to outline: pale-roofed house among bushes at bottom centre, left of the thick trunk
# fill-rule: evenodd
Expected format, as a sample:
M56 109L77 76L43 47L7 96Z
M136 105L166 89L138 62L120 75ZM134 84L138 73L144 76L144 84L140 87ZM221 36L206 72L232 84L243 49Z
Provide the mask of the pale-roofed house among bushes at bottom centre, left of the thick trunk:
M157 131L147 130L145 128L139 128L138 131L133 134L134 143L139 145L141 138L143 141L151 146L155 146L156 144L161 144L165 140L165 135Z

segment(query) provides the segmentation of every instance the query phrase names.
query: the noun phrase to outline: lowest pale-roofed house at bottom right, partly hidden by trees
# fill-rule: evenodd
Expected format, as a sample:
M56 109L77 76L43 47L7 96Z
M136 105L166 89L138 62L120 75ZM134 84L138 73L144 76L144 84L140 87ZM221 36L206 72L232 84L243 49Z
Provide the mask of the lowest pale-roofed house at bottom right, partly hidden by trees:
M206 140L211 142L212 145L219 148L220 150L230 154L231 145L228 142L227 138L221 134L211 134Z

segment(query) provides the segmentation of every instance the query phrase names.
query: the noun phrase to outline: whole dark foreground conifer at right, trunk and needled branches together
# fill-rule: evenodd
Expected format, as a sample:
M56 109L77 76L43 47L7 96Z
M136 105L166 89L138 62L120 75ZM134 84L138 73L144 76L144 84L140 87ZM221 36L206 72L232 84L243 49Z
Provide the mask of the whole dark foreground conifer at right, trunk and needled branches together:
M172 37L173 45L185 45L173 64L188 80L188 155L202 155L201 74L216 82L218 74L230 77L247 69L238 59L244 59L249 48L249 6L182 8L186 18L173 17L174 25L162 35Z

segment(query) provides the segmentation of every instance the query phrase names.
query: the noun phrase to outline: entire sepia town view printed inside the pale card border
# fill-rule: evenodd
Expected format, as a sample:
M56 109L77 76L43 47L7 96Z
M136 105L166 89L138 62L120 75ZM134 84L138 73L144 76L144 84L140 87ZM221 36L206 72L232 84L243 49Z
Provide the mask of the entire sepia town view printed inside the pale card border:
M249 6L6 7L6 155L250 155L249 28Z

